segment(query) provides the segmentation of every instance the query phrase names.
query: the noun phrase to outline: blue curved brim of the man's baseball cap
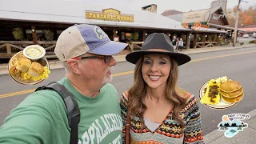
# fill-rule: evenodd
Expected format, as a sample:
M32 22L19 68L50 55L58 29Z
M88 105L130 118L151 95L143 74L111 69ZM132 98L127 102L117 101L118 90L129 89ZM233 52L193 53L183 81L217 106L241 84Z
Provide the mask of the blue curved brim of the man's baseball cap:
M114 55L121 52L128 46L127 43L110 41L102 46L98 46L93 50L89 50L88 53L99 54L99 55Z

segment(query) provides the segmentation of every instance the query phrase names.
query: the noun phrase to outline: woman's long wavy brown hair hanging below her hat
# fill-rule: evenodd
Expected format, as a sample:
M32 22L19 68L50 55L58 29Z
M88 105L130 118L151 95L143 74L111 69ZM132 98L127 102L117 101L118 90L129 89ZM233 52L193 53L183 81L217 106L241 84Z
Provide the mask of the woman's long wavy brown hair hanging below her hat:
M180 123L181 128L185 127L184 122L182 122L182 118L179 116L179 113L182 111L186 104L186 98L182 97L180 93L180 89L177 84L178 79L178 63L170 58L171 68L169 78L167 78L166 82L166 90L165 96L170 101L170 103L174 104L172 116L174 120ZM143 57L138 60L134 70L134 84L128 90L129 94L129 102L128 107L130 109L130 114L132 116L138 116L140 121L142 122L142 127L144 127L144 118L143 114L146 110L146 105L144 103L144 99L146 97L146 82L142 77L142 63Z

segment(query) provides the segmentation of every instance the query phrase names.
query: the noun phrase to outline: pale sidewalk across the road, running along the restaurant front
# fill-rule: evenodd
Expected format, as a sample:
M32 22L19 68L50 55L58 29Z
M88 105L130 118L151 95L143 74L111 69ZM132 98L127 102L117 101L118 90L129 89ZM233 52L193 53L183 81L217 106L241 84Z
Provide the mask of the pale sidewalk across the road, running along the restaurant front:
M206 47L206 48L197 48L197 49L189 49L189 50L182 50L183 54L198 54L198 53L206 53L206 52L212 52L212 51L220 51L220 50L234 50L234 49L241 49L241 48L248 48L248 47L256 47L255 44L247 44L244 46L214 46L214 47ZM256 49L255 49L256 50ZM129 54L130 50L123 50L118 55L114 55L114 58L117 62L125 62L126 61L126 54ZM62 64L59 61L50 61L50 70L54 69L61 69ZM9 74L8 73L8 66L7 64L0 65L0 75L3 74Z

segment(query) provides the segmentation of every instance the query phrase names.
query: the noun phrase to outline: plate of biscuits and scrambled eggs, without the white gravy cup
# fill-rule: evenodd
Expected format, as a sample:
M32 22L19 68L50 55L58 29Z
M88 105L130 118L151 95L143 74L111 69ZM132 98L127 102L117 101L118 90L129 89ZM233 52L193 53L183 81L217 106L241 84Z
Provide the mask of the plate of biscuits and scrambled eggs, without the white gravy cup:
M49 62L45 57L37 60L26 58L23 50L14 54L8 63L9 74L16 82L24 85L35 85L48 78Z

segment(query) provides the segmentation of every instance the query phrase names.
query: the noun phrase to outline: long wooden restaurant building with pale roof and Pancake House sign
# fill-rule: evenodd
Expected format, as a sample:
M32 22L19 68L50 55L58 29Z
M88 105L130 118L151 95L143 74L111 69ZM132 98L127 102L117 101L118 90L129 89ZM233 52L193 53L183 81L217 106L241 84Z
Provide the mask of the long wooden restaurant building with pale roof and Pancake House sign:
M46 49L46 57L54 58L58 35L74 24L101 26L110 39L127 42L126 49L140 48L145 38L154 32L185 36L190 48L194 30L182 27L181 22L156 14L157 6L133 10L128 6L92 5L85 2L2 0L0 5L0 58L10 58L31 44ZM149 11L150 10L150 11ZM222 34L221 30L198 30L204 34Z

